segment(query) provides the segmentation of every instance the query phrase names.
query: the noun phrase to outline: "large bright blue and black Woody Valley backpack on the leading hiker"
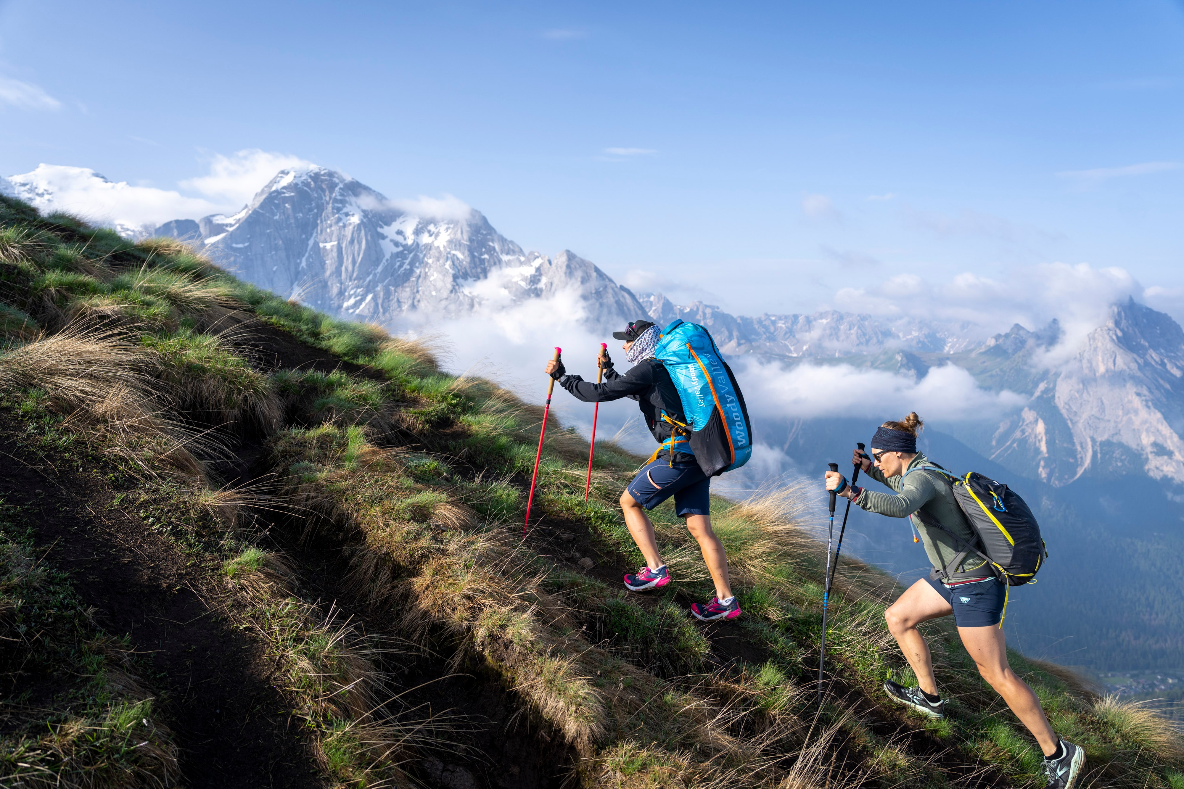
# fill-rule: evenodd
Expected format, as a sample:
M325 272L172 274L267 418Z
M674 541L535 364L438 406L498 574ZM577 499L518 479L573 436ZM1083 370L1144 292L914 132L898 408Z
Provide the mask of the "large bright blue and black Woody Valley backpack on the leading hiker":
M658 335L654 358L670 373L687 417L683 424L662 413L675 428L670 448L686 441L707 476L747 463L752 456L748 408L708 331L676 320Z

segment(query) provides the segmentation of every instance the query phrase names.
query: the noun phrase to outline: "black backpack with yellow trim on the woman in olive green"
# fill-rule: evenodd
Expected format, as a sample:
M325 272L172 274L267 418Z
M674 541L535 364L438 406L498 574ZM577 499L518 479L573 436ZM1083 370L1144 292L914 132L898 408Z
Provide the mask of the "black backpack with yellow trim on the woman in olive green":
M973 553L986 559L996 577L1009 586L1032 583L1048 558L1048 550L1041 538L1036 517L1019 494L1003 482L977 472L957 477L937 464L918 466L909 472L921 469L937 472L940 479L953 487L954 500L978 538L978 546L966 545L948 528L922 514L920 509L916 512L926 526L940 528L965 546L942 569L942 577L948 578L948 573Z

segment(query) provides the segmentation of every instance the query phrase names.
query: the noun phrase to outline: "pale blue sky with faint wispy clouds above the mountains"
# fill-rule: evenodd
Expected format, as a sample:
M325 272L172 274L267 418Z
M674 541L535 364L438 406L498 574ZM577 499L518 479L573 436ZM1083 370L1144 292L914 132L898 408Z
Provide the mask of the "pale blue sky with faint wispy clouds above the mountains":
M1179 2L425 5L0 2L0 173L258 148L738 313L1051 264L1184 313Z

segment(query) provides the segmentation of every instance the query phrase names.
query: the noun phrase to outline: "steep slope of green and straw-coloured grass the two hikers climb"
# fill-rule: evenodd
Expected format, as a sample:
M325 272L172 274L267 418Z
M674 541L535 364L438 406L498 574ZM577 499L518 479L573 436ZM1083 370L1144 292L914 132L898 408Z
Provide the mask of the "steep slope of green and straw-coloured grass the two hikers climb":
M1038 750L948 623L928 633L951 718L927 723L884 704L879 684L908 679L882 620L899 590L856 562L839 569L834 674L816 712L824 554L800 528L792 492L714 502L746 615L703 627L686 604L708 579L669 506L655 521L676 583L649 597L619 588L619 572L641 564L614 505L638 458L611 444L598 445L585 502L587 443L548 428L540 517L522 538L541 411L495 384L443 374L414 344L282 301L179 245L131 245L11 200L0 206L0 390L27 425L22 447L85 454L135 480L126 501L142 527L165 532L208 580L202 599L282 667L282 692L326 783L400 784L410 775L448 785L457 759L478 781L496 780L475 766L476 753L432 756L440 743L485 743L456 731L481 720L453 721L450 733L449 721L425 723L410 704L380 704L411 681L463 672L508 688L539 748L552 743L560 763L551 775L587 785L1042 785ZM349 364L270 364L256 338L274 328ZM229 480L252 485L227 493ZM43 592L67 599L72 582L52 560L27 570L45 543L36 525L0 526L11 546L0 556L0 636L15 644L2 642L0 671L15 678L51 661L25 636L21 611ZM52 583L31 572L54 573ZM310 573L353 621L316 604L317 590L301 580ZM33 764L21 753L46 721L63 739L91 731L76 721L121 721L129 705L150 704L152 687L122 692L88 657L96 648L85 644L121 635L71 626L64 643L84 662L41 671L60 686L52 704L0 720L0 775L41 770L81 785L90 759L122 770L103 775L131 776L105 785L174 781L168 703L156 717L142 710L155 762L126 756L128 735L72 759L66 745L39 742L40 761L20 766ZM1055 667L1019 655L1012 665L1055 727L1086 745L1093 785L1184 787L1179 738L1159 719L1090 697ZM405 666L414 666L410 676L395 669ZM79 682L115 689L76 692ZM7 701L22 710L20 698ZM122 724L95 730L104 725Z

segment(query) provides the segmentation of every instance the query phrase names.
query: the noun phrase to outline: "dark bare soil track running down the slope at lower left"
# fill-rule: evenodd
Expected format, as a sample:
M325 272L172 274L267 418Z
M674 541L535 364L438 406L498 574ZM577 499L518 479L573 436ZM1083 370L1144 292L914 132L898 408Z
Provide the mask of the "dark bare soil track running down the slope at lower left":
M0 495L34 513L38 556L69 571L107 633L128 634L194 787L320 787L307 737L271 685L262 646L207 607L204 573L126 505L97 470L22 444L0 411ZM134 492L124 492L134 493ZM124 499L129 498L124 495ZM32 679L32 678L31 678Z

